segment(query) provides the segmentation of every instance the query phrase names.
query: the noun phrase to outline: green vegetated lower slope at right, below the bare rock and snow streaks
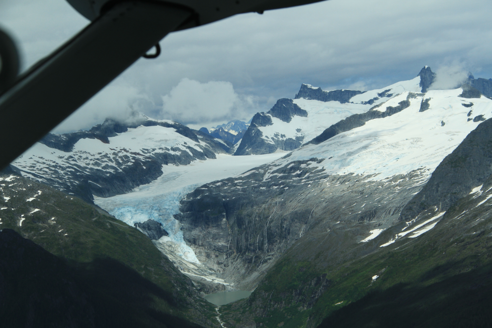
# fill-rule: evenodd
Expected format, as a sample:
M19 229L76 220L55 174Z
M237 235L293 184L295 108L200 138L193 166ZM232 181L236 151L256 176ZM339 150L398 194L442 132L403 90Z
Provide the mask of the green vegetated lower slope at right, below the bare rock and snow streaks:
M491 327L492 200L475 207L489 196L467 196L430 231L379 247L402 223L345 253L356 257L346 262L324 263L329 248L307 236L248 300L222 307L223 319L228 327Z

